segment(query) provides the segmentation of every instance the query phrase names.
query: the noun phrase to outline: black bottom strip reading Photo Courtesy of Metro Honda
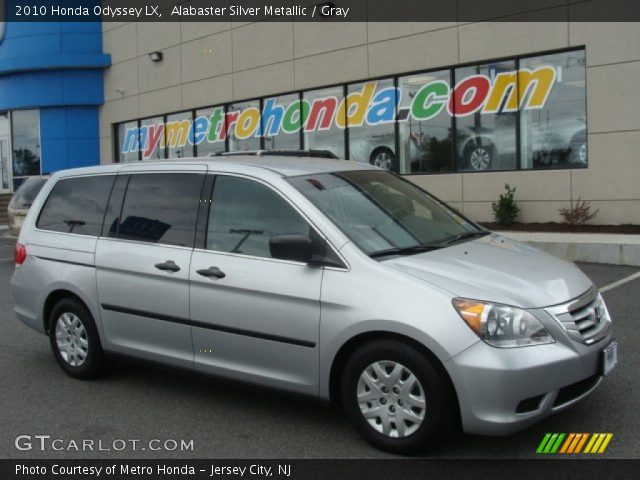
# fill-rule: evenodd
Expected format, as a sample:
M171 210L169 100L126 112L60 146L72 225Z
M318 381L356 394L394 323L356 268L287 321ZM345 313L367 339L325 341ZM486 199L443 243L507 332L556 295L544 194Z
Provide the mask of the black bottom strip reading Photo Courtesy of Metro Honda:
M2 480L637 478L640 460L0 460Z

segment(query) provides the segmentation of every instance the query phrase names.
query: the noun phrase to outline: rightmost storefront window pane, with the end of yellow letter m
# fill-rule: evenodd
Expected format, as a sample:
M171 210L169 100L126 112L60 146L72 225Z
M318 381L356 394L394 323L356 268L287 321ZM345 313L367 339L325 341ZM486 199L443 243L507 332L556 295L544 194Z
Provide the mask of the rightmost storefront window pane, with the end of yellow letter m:
M547 82L553 85L542 108L520 111L521 168L586 167L584 50L523 58L520 69L546 74ZM519 78L521 105L536 95L536 85L528 80L528 77ZM536 81L544 80L543 77Z

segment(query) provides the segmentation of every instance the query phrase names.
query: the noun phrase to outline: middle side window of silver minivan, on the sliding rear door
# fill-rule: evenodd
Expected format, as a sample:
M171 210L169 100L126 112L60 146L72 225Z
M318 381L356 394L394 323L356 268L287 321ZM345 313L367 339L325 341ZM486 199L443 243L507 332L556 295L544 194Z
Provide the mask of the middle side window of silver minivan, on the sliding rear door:
M193 247L204 175L131 175L122 206L118 238Z

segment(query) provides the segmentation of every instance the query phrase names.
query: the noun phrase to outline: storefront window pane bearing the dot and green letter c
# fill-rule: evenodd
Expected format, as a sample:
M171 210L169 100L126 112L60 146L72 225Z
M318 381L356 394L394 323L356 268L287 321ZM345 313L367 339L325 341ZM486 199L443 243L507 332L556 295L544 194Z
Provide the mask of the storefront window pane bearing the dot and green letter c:
M453 171L452 119L444 101L450 80L449 70L398 79L400 173Z

